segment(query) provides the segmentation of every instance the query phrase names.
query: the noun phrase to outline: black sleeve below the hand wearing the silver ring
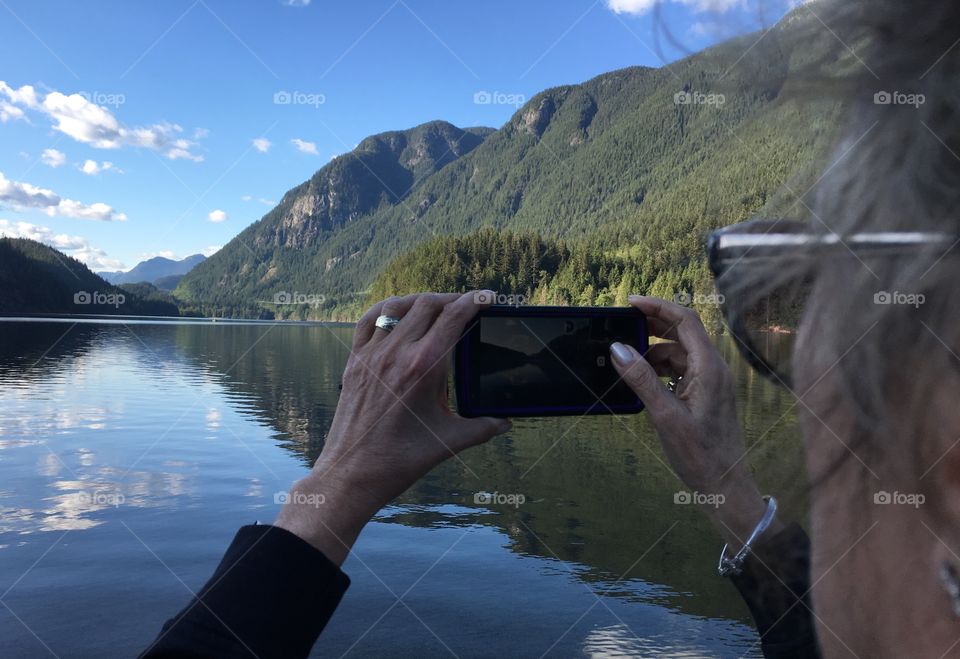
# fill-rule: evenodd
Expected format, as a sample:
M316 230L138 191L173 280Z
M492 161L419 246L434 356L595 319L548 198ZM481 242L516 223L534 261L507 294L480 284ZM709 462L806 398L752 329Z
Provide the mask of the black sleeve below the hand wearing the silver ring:
M306 657L350 579L284 529L244 526L141 657Z

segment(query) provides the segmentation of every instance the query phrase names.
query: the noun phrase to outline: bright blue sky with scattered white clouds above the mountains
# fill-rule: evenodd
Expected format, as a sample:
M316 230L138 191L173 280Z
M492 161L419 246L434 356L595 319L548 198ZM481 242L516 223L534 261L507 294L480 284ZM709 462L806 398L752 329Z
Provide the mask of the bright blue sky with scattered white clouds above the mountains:
M210 253L368 135L499 127L547 87L681 57L664 29L696 51L793 2L655 4L4 0L0 234L94 270Z

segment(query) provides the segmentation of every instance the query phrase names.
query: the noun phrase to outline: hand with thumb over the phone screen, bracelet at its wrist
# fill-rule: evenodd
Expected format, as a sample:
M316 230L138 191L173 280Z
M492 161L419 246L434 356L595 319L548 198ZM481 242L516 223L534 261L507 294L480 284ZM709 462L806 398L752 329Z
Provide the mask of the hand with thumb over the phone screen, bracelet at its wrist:
M614 368L644 402L680 479L696 492L723 495L723 504L705 510L726 541L739 548L766 504L746 461L733 376L695 311L639 295L631 295L630 304L646 315L651 336L672 343L652 345L646 358L615 343ZM660 376L682 377L676 393Z

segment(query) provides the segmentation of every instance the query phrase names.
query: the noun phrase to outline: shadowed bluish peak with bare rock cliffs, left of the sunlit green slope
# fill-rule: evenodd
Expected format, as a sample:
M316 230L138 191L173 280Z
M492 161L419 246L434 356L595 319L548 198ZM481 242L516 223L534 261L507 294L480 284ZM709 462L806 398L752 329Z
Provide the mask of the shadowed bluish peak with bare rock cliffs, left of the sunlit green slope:
M433 121L364 139L287 192L222 253L198 265L177 286L176 296L206 314L257 317L264 315L259 300L272 307L274 296L284 291L306 295L325 273L359 255L332 254L332 237L406 203L424 180L475 150L492 132Z

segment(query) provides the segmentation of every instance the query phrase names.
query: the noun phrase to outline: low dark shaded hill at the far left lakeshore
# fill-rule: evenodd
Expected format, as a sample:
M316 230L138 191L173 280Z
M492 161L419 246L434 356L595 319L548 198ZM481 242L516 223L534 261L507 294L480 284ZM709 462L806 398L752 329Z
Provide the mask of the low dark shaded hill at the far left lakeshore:
M114 286L80 261L26 238L0 238L0 291L6 314L179 315L169 295Z

